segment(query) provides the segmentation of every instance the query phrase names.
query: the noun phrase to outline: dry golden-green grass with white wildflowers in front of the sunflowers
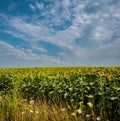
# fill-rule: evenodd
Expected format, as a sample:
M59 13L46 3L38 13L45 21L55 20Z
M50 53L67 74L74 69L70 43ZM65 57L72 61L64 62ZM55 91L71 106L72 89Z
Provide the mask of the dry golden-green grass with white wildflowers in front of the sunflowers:
M79 113L79 112L78 112ZM0 97L0 121L83 121L83 116L68 111L64 104L35 102L27 99Z

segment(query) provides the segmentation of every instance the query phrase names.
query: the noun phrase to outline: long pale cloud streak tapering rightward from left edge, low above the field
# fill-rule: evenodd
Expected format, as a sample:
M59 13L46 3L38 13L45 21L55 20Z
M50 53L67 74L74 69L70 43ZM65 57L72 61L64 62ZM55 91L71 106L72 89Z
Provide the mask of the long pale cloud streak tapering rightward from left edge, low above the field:
M32 52L30 49L19 49L6 42L0 41L0 58L9 58L12 60L21 61L42 61L49 63L62 63L58 58L54 58L49 55L38 55ZM2 62L1 62L2 63ZM4 62L3 62L4 63Z

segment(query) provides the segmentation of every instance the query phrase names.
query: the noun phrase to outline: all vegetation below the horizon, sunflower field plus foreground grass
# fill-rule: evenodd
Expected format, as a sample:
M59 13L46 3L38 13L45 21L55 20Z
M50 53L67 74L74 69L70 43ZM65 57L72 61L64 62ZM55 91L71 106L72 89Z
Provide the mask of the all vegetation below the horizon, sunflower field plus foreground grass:
M120 67L0 69L0 121L119 121Z

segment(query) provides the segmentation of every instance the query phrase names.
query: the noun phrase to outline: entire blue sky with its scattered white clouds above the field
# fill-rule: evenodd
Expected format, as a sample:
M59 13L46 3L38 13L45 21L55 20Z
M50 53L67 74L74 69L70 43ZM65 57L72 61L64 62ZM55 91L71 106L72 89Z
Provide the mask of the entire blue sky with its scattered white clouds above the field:
M0 0L0 67L120 66L120 0Z

